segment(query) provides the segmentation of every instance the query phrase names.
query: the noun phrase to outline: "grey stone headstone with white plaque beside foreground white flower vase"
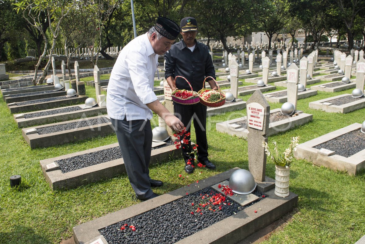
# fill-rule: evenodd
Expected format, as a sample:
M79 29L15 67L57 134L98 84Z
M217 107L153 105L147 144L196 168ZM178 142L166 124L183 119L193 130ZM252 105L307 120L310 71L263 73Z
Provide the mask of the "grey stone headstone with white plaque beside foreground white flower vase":
M247 100L249 171L260 182L265 180L266 154L262 142L268 142L270 105L260 90Z

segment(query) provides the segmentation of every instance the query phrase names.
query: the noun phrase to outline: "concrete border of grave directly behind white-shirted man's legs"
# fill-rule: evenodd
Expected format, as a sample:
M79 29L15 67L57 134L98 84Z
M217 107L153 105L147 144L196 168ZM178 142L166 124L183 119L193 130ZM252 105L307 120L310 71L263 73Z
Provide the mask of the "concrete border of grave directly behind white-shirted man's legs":
M99 180L112 178L115 175L126 173L123 158L121 157L114 160L108 160L104 163L94 164L65 173L61 171L61 168L59 167L57 161L76 156L82 156L85 158L93 157L87 155L90 153L96 153L101 150L112 148L116 148L116 150L120 151L119 144L117 142L76 153L70 153L59 157L41 160L39 163L41 164L41 168L43 171L43 175L45 176L46 182L49 183L49 186L53 190L75 188L97 182ZM170 159L170 157L181 157L181 150L176 149L175 145L168 145L165 147L153 149L151 151L151 164L166 162Z

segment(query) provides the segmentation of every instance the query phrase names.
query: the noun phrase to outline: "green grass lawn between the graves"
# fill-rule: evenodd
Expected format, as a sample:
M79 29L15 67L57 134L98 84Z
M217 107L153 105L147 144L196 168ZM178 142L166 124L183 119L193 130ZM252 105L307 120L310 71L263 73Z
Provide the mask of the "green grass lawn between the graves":
M95 98L95 88L86 88L87 95ZM279 89L285 88L277 87ZM362 123L365 108L349 114L333 114L308 107L309 102L345 93L351 93L351 89L335 93L318 91L316 96L298 100L297 108L313 114L313 121L269 137L269 145L275 140L283 151L292 136L300 136L302 143L352 123ZM249 97L241 98L247 101ZM270 103L271 109L280 107L280 103ZM217 166L215 171L197 168L194 174L187 175L182 159L152 165L151 177L165 182L154 191L164 194L233 167L248 169L247 141L215 130L217 122L245 115L244 109L207 119L210 160ZM67 191L52 191L42 174L39 160L115 143L116 136L31 150L3 99L0 99L0 120L1 243L58 244L72 236L74 226L140 202L135 198L125 174ZM157 126L156 116L151 124ZM194 129L192 138L195 138ZM274 178L274 171L274 163L268 159L266 175ZM19 189L9 186L9 177L16 174L22 176ZM179 174L185 179L179 178ZM288 223L262 243L355 243L365 234L364 188L365 174L349 176L305 160L294 160L290 190L299 195L298 206Z

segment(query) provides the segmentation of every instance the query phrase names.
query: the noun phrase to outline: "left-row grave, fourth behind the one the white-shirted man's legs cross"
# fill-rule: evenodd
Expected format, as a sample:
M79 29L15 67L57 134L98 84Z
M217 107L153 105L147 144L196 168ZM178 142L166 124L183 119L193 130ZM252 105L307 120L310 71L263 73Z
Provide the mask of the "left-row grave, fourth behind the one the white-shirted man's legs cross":
M40 93L41 92L41 93ZM38 91L22 94L13 94L3 96L5 103L24 102L29 100L54 98L56 96L66 96L66 91Z

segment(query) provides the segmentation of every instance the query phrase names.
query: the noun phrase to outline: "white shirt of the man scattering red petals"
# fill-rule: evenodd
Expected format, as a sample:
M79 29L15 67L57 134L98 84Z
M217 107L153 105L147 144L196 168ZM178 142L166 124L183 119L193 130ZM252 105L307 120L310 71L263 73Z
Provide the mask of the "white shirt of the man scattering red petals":
M147 103L157 100L153 92L158 55L147 33L130 41L119 53L108 83L107 110L113 119L151 119Z

